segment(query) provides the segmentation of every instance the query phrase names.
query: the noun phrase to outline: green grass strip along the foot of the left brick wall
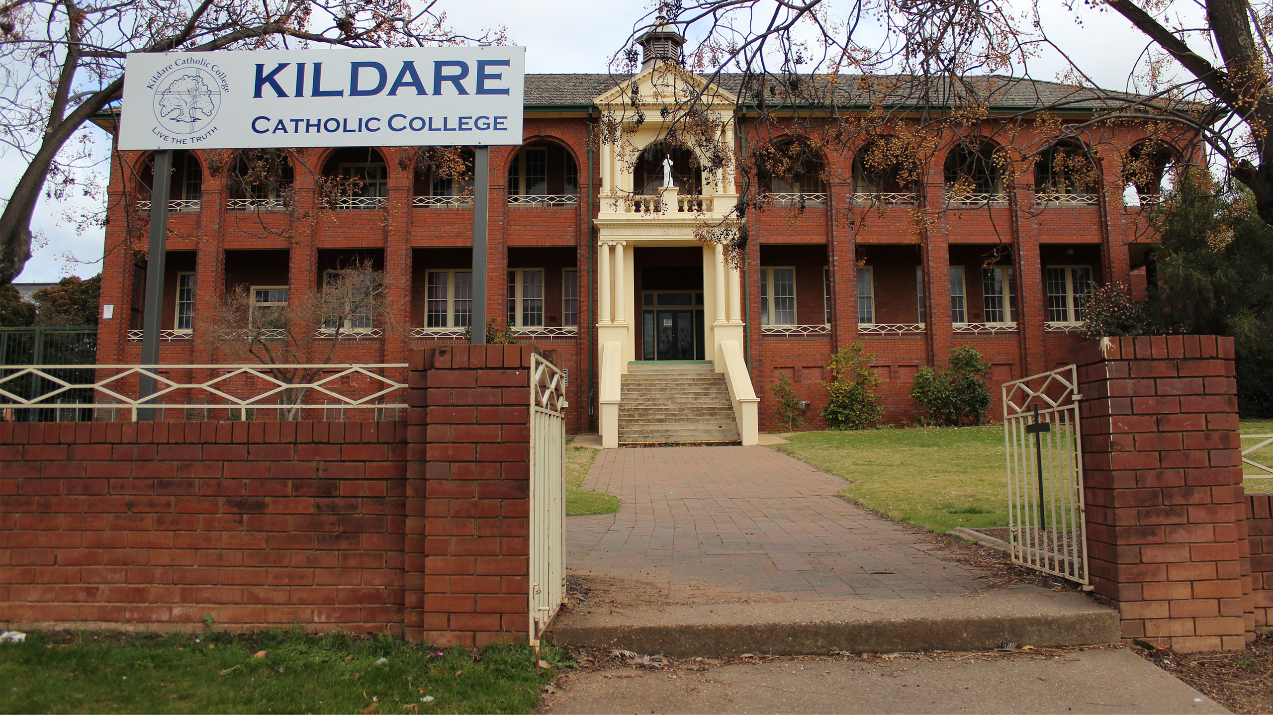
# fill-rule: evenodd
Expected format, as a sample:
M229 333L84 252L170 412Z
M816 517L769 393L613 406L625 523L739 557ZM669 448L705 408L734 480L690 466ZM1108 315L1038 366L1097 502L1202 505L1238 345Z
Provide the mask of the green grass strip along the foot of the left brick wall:
M551 674L535 672L527 646L439 653L299 630L33 632L0 644L0 712L531 712Z

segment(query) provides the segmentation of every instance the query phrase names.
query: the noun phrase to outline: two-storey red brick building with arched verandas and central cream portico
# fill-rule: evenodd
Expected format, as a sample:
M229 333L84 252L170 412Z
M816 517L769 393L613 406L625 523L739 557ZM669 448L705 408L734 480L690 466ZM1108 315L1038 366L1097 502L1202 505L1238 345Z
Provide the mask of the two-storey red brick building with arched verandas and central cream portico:
M816 427L827 358L853 341L875 355L886 420L910 420L919 366L973 345L993 364L997 389L1066 364L1078 341L1078 299L1092 285L1132 282L1144 265L1146 219L1124 195L1157 188L1128 191L1119 160L1137 145L1136 131L1113 127L1092 140L1095 184L1055 181L1048 155L983 162L967 153L989 156L1006 136L1022 145L1049 139L1021 112L1073 95L1062 85L988 78L995 106L1025 117L1011 131L992 113L951 132L908 186L864 170L864 146L824 153L822 176L834 181L774 178L760 187L773 201L747 216L749 249L736 270L694 230L735 206L738 172L708 176L693 155L645 150L658 139L668 93L695 81L657 60L631 78L528 75L523 142L491 149L489 313L518 341L560 351L573 431L617 441L626 385L636 384L630 368L659 360L712 363L745 443L757 426L749 410L759 408L759 429L777 429L769 385L780 371L811 402L806 424ZM602 140L603 117L633 109L634 85L645 122ZM774 127L755 112L737 118L736 93L714 87L704 98L705 112L721 118L722 141L741 154L773 141ZM278 168L286 197L239 188L234 153L177 151L163 318L171 330L160 361L214 361L192 337L227 290L250 286L265 304L294 299L321 290L325 271L355 257L384 271L404 330L355 331L336 361L401 363L414 346L463 341L472 200L460 182L416 170L412 151L298 150L299 165ZM672 159L668 188L662 162L649 159L659 153ZM103 364L140 359L145 260L134 249L145 246L148 162L137 151L112 164L102 303L113 317L99 323ZM360 186L325 198L320 178L331 176L359 177ZM952 193L959 182L971 192ZM668 394L680 389L667 384Z

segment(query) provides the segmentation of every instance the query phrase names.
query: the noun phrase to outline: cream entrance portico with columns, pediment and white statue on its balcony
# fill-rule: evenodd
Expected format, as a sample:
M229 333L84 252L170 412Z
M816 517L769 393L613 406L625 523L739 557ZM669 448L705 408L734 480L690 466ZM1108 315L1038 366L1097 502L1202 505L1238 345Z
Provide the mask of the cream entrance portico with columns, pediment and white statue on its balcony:
M710 363L710 371L723 377L728 391L737 425L733 439L742 444L757 439L759 401L742 352L740 271L726 260L719 243L704 246L698 238L699 232L721 224L737 202L733 165L728 160L709 162L698 148L659 142L668 128L659 118L661 109L689 93L701 93L696 127L712 132L714 144L732 148L737 98L705 87L675 62L647 62L639 75L594 99L608 126L616 127L612 140L601 146L601 210L593 219L598 242L600 430L605 447L619 447L621 441L620 407L625 393L633 392L625 389L625 380L630 364L639 361ZM625 121L638 112L645 121ZM699 267L698 275L684 270L690 266ZM684 374L671 374L666 389L693 392L698 385L685 379ZM708 426L719 419L709 420L696 410L684 410L681 417L673 412L668 410L666 420L680 419L686 427L677 433L684 439L676 441L717 440L710 430L695 438L689 427Z

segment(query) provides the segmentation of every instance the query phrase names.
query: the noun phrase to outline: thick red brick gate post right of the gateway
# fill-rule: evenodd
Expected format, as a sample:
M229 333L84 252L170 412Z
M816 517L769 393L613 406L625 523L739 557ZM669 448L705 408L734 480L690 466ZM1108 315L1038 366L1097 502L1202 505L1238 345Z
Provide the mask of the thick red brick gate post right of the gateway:
M1244 648L1251 597L1232 338L1104 338L1069 356L1083 396L1095 593L1119 609L1125 639Z

